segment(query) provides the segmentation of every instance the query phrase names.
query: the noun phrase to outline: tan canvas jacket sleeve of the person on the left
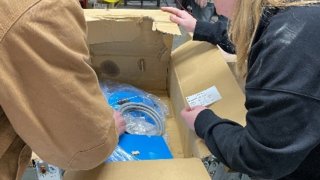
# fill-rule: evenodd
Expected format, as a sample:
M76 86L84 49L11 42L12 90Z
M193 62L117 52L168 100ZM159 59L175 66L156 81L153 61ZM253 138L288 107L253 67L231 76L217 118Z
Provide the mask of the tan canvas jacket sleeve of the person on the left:
M17 134L63 169L103 162L118 136L88 65L78 1L39 1L11 27L0 49L0 101Z

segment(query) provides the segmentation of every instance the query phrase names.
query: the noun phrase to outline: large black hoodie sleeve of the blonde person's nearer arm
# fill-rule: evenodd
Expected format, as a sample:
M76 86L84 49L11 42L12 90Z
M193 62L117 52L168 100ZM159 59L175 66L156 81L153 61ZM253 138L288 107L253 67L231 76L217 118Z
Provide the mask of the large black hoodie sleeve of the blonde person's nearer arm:
M274 17L253 45L246 83L247 125L223 120L210 110L202 111L195 122L197 135L214 155L251 176L286 176L320 142L320 36L312 18L319 9L307 15L306 8L300 9Z

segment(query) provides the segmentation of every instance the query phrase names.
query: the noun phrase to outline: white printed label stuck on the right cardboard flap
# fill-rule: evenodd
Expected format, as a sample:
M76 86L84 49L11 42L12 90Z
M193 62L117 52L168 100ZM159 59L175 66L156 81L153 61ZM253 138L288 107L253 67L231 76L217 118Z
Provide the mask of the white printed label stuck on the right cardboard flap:
M189 107L195 106L208 106L222 99L218 89L212 86L204 91L197 94L186 97Z

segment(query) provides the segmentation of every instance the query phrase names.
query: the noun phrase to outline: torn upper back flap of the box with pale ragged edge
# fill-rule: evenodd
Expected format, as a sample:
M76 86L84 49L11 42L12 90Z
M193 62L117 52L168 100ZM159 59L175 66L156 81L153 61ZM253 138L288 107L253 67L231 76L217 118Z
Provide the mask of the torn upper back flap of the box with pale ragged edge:
M161 10L90 9L85 10L85 16L87 23L92 27L92 33L88 34L89 44L132 40L140 33L139 24L143 18L152 20L152 31L181 35L178 26L170 22L169 14ZM113 29L115 27L117 29ZM113 33L105 36L105 32Z

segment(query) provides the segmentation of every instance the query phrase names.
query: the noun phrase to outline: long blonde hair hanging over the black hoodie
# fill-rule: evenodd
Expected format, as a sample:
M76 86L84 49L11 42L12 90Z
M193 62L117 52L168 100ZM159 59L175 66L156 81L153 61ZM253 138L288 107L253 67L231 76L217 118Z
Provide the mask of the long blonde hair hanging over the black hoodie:
M320 0L237 0L229 36L236 47L238 72L246 76L246 61L264 7L285 8L314 3L320 3Z

